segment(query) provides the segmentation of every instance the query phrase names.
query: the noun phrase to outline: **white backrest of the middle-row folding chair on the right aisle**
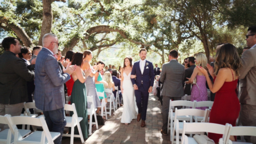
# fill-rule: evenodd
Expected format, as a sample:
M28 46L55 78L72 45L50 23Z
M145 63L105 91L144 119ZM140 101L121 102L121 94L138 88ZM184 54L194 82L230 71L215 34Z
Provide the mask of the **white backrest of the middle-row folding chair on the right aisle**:
M208 109L177 109L175 108L175 117L183 115L193 115L193 116L204 116L206 117Z

